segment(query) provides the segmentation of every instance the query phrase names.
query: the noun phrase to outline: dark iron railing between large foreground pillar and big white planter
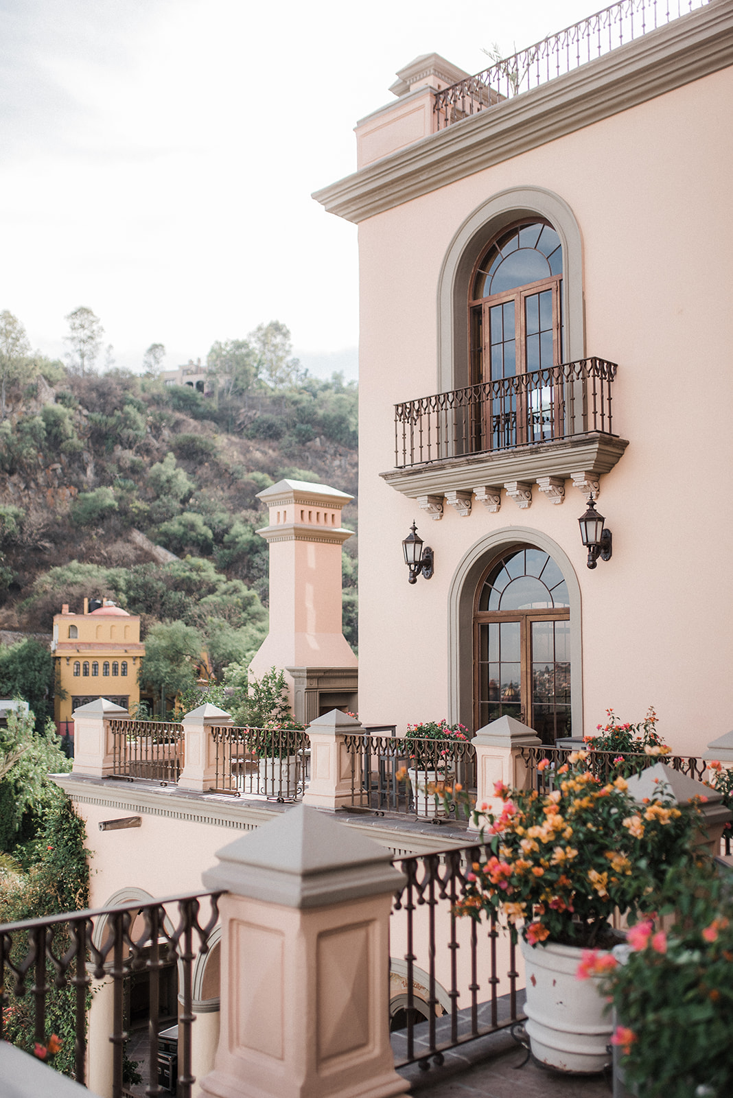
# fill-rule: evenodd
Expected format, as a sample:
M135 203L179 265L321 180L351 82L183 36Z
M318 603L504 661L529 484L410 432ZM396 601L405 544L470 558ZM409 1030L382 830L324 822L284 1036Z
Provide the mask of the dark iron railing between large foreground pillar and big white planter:
M465 895L472 865L485 862L489 854L488 848L478 843L394 860L394 865L407 877L395 898L391 927L393 949L397 939L406 946L406 1024L402 1033L395 1033L393 1016L391 1026L397 1067L416 1061L428 1067L430 1057L440 1064L442 1053L449 1049L509 1028L526 1018L518 1009L516 931L500 927L495 917L486 918L480 925L472 918L458 918L454 914L455 905ZM427 908L425 918L421 917L422 908ZM406 926L399 926L402 918L406 920ZM443 966L443 987L450 1007L448 1017L441 1021L437 960L443 950L448 954ZM463 957L466 951L469 954L464 964L459 964L461 950L464 951ZM499 952L505 954L507 961L503 973ZM427 974L427 987L422 988L427 998L421 1004L416 995L416 987L419 987L418 961L421 962L421 972ZM422 968L422 965L426 967ZM422 1012L427 1007L427 1019L418 1022L416 1018L420 1005L424 1006Z

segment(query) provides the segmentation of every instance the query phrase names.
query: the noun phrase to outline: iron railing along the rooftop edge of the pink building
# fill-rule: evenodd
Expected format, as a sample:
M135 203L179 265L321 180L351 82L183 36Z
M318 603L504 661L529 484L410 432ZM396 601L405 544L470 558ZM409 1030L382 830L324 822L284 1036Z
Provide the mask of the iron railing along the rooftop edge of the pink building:
M506 102L523 91L572 72L624 43L642 37L709 0L620 0L594 15L548 35L510 57L494 61L476 76L435 93L437 128L444 130Z

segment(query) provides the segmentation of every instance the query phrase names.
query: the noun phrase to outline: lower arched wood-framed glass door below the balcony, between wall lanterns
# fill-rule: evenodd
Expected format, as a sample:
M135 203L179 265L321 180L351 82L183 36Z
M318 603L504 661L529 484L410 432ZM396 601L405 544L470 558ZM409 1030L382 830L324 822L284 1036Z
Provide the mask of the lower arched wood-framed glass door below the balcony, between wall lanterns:
M570 601L555 561L520 546L486 569L474 603L476 728L508 715L543 743L571 735Z

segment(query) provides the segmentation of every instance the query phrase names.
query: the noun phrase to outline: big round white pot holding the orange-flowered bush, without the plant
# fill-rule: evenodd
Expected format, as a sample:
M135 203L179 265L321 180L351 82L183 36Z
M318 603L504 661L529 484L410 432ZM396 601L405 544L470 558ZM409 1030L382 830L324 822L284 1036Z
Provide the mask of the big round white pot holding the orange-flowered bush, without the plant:
M598 976L575 976L583 950L554 943L520 944L532 1055L561 1072L602 1072L611 1063L611 1011L598 989Z

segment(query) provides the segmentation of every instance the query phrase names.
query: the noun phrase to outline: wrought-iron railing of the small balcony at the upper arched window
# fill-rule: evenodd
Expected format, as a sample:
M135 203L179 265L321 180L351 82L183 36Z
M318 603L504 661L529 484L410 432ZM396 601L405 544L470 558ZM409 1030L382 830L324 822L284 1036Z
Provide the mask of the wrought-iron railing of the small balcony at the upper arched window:
M585 358L395 404L395 467L611 435L617 369Z

